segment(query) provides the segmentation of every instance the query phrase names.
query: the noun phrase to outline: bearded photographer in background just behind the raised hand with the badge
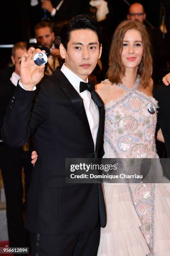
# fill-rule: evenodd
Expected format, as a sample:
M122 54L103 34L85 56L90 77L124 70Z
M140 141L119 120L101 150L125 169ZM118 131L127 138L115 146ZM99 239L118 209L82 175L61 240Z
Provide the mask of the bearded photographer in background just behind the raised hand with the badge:
M41 21L37 23L34 31L37 39L37 47L46 51L48 61L45 74L50 76L56 67L61 66L63 63L60 50L55 48L55 35L52 26L46 21Z

